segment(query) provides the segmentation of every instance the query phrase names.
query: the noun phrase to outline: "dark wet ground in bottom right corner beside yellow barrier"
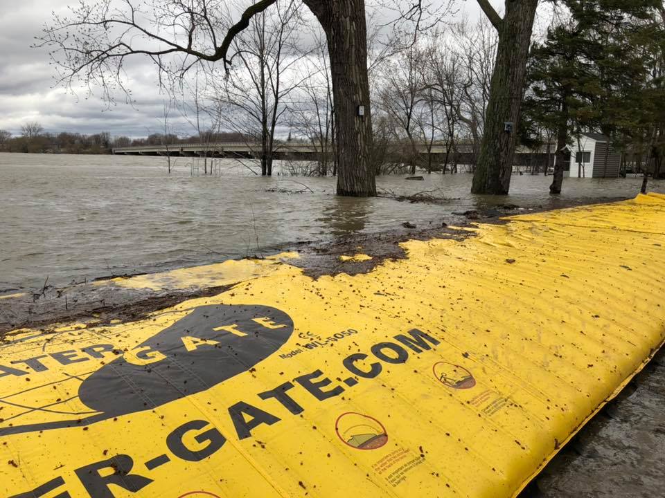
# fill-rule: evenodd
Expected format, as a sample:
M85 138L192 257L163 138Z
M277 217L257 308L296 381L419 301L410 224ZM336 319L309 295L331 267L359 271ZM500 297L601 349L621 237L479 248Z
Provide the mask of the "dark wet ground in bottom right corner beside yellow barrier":
M665 350L547 465L520 498L665 496Z

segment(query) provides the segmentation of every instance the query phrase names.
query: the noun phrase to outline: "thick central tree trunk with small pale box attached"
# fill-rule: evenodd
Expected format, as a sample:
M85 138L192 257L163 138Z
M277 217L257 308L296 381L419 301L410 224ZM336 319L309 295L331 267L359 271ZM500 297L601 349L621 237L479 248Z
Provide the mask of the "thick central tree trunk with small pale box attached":
M305 0L328 39L337 131L337 194L375 196L364 0ZM362 106L364 116L358 116Z

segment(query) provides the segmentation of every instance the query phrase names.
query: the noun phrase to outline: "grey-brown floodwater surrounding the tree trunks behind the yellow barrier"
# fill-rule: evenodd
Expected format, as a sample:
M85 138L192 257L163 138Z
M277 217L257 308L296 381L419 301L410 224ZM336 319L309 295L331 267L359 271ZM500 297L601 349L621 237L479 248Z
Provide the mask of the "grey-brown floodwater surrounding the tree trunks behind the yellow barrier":
M335 196L335 178L261 178L236 160L221 176L191 176L192 158L0 154L0 294L62 286L108 275L265 254L298 241L354 232L425 228L454 212L511 203L556 208L589 199L627 199L641 178L566 179L514 176L507 197L473 196L469 174L378 178L382 192L429 195L442 205ZM282 190L303 190L287 193ZM665 182L650 189L665 192ZM267 192L267 190L278 190Z

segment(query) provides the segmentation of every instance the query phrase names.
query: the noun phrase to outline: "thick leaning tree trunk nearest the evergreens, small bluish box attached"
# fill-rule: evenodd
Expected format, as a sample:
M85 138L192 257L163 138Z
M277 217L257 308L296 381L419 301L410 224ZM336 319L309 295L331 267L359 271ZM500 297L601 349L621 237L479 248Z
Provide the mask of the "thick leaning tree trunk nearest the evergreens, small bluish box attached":
M499 32L499 45L471 191L474 194L508 194L538 0L506 0L504 19L496 14L488 1L479 0L479 3ZM504 131L505 122L513 123L512 132Z

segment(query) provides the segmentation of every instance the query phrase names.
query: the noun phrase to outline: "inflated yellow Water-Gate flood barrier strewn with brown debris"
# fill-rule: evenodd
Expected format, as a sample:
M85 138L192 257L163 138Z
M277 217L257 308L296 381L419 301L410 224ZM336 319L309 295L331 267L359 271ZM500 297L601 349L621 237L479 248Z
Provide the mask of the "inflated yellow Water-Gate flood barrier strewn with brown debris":
M0 494L514 496L662 345L664 247L665 196L639 196L10 335Z

